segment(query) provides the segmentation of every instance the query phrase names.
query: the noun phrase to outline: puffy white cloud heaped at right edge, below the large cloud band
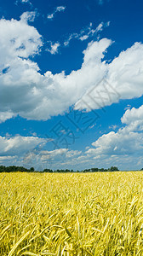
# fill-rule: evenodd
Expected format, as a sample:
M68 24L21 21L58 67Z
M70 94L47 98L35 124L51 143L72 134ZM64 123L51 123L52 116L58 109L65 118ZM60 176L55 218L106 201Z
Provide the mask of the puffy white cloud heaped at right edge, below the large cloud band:
M125 127L117 132L111 131L92 143L87 154L143 154L143 105L132 108L123 114L121 119Z

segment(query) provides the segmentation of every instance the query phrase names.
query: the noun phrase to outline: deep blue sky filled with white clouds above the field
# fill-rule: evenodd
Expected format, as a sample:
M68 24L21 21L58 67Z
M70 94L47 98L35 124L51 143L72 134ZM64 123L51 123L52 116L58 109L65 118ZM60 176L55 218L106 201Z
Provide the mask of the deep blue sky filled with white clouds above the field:
M0 4L0 165L143 167L142 8Z

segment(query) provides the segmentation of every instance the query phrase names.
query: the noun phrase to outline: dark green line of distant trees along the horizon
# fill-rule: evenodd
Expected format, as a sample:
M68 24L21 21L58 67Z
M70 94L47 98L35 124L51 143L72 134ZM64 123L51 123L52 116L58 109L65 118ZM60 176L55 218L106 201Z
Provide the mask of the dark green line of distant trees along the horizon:
M116 166L112 166L111 168L104 169L104 168L90 168L90 169L84 169L82 171L76 171L76 172L117 172L119 171ZM30 169L27 169L23 166L0 166L0 172L38 172L34 170L34 167L31 167ZM73 170L69 169L44 169L41 172L75 172Z

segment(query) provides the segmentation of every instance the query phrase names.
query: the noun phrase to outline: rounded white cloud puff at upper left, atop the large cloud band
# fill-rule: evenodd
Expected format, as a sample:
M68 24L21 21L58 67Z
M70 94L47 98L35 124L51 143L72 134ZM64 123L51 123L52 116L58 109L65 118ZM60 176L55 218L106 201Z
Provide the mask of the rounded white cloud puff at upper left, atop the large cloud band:
M19 58L28 58L30 55L37 54L43 45L36 28L29 26L23 20L0 20L0 36L1 71L2 67L10 67L11 63L16 65L20 61ZM34 62L28 61L27 63L31 67L37 67Z

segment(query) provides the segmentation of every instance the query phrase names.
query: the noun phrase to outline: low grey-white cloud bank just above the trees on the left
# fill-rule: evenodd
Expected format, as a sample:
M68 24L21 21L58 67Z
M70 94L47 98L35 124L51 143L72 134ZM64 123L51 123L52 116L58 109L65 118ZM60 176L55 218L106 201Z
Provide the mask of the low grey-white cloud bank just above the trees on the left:
M42 171L44 168L61 168L67 160L76 160L82 153L69 148L43 150L49 142L39 137L0 137L0 163L1 165L20 165ZM66 166L67 168L68 166Z

